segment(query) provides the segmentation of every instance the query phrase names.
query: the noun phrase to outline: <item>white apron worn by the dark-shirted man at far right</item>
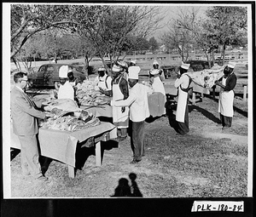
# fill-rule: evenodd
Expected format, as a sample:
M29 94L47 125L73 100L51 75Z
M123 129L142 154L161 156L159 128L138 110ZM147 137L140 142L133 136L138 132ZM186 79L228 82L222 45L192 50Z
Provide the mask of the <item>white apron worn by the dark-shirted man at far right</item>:
M226 85L226 78L222 79L222 84ZM220 87L219 91L219 100L218 100L218 112L226 117L233 117L233 101L234 101L234 91L224 91L223 88Z

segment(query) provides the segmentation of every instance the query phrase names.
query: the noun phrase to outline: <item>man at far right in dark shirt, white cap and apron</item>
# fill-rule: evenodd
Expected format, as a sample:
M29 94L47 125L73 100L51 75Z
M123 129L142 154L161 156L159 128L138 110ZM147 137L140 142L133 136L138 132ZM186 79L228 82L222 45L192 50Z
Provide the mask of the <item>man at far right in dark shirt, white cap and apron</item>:
M220 121L223 128L230 128L232 124L232 117L234 116L233 102L234 89L236 87L236 75L233 72L236 62L229 62L224 68L224 76L216 81L216 85L220 87L218 99L218 112L220 114Z

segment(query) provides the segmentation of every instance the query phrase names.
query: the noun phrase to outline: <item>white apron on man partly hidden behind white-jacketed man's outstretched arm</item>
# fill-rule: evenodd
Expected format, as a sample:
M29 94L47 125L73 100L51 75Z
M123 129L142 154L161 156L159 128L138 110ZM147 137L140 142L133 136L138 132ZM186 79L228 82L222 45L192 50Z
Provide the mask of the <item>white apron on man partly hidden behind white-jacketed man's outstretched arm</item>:
M121 78L119 79L120 83ZM121 90L119 89L119 83L113 84L112 91L113 91L113 100L124 100L124 94L122 94ZM112 106L113 108L113 123L118 128L128 128L128 116L129 116L129 107L125 107L125 112L122 113L122 107Z

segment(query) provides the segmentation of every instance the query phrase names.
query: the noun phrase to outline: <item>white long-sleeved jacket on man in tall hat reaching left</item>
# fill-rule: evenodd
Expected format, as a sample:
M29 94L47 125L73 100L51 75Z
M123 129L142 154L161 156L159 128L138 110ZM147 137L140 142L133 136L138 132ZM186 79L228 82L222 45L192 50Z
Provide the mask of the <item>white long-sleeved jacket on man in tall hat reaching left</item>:
M130 106L132 122L142 122L149 117L147 87L141 83L135 84L126 100L111 101L111 106Z

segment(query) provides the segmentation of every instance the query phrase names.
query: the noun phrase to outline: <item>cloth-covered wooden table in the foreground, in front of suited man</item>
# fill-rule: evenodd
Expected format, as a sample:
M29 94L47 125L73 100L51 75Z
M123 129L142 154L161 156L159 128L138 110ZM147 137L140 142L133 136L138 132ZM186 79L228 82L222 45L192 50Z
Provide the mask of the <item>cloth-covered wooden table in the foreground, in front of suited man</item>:
M96 143L96 166L102 164L101 141L117 137L117 129L112 123L101 123L97 126L68 132L49 128L39 128L38 140L40 154L68 165L69 177L74 178L75 153L79 142L93 138ZM10 128L10 147L20 149L18 136Z

